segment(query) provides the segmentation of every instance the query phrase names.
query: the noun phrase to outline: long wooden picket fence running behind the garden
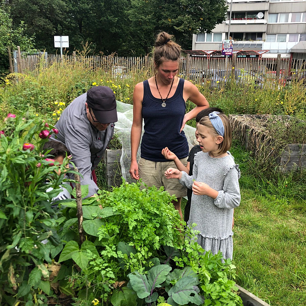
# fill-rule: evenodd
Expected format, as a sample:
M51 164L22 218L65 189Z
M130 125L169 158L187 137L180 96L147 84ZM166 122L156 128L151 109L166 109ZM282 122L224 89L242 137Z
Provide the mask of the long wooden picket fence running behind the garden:
M138 73L146 70L152 73L154 70L151 57L118 57L118 56L80 56L73 52L72 55L58 54L29 55L22 58L22 69L34 71L44 69L52 65L75 65L81 64L84 69L103 69L111 71L113 76L121 75L121 78L129 77L130 73ZM286 84L286 81L294 77L306 77L305 60L277 58L200 58L182 57L180 64L180 75L183 78L192 80L195 84L204 82L221 83L226 81L231 73L236 77L241 76L239 82L256 75L257 78L278 80L277 83ZM248 78L246 78L248 77Z

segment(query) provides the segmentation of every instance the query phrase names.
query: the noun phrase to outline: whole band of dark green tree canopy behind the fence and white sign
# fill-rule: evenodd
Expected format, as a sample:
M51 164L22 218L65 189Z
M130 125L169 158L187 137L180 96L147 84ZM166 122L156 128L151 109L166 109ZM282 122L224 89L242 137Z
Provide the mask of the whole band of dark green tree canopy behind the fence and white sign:
M68 35L69 49L91 43L105 55L148 54L159 31L173 34L190 49L192 34L211 31L225 18L225 1L219 0L8 0L12 27L27 25L35 45L56 52L54 35Z

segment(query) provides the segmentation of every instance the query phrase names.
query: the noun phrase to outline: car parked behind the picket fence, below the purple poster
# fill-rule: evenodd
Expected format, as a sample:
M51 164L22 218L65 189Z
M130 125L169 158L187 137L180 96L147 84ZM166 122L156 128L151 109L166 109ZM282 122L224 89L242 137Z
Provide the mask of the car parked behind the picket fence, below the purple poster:
M257 72L235 69L234 75L237 84L254 83L256 86L263 86L263 77ZM208 69L203 71L202 78L202 84L210 83L213 87L219 87L228 80L231 80L232 71L225 69Z

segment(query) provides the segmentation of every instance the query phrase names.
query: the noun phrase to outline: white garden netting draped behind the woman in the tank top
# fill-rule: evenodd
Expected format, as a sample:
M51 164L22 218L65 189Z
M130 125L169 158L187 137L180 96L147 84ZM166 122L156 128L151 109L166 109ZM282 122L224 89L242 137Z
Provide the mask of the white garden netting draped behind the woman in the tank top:
M131 127L133 123L133 105L117 101L118 121L115 123L115 133L122 144L122 155L120 158L121 173L127 182L132 182L129 170L131 163ZM185 125L184 130L189 147L195 144L195 128ZM142 125L142 135L143 135ZM142 136L141 135L141 136ZM137 159L140 158L140 146L137 152Z

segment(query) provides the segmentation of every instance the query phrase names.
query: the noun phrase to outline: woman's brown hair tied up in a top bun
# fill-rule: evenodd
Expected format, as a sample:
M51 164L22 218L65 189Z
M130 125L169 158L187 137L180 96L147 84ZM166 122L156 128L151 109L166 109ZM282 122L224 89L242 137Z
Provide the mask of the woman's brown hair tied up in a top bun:
M155 41L153 60L155 69L165 61L180 61L181 46L174 42L173 35L166 32L160 32Z

